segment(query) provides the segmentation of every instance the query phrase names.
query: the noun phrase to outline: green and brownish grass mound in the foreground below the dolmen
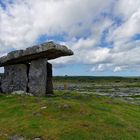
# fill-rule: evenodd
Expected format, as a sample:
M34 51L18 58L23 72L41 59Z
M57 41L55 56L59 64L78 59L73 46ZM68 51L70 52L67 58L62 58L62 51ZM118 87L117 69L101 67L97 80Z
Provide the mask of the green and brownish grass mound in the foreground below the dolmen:
M139 140L140 106L76 92L0 96L0 140Z

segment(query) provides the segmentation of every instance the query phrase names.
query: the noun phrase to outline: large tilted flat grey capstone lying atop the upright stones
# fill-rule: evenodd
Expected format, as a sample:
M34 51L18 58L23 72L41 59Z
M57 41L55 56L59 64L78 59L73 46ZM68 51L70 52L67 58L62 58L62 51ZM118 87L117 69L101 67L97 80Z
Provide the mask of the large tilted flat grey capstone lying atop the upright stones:
M28 63L32 60L47 58L55 59L61 56L73 55L73 52L64 45L54 42L47 42L41 45L27 48L26 50L17 50L8 53L7 56L0 58L0 67L20 63Z

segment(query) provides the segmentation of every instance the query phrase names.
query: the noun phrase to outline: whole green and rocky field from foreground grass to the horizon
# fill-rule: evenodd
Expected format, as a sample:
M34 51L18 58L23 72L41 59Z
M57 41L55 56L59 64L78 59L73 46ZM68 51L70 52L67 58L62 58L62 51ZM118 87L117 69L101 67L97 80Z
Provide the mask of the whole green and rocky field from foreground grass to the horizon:
M0 95L0 140L139 140L139 86L65 76L54 78L52 97Z

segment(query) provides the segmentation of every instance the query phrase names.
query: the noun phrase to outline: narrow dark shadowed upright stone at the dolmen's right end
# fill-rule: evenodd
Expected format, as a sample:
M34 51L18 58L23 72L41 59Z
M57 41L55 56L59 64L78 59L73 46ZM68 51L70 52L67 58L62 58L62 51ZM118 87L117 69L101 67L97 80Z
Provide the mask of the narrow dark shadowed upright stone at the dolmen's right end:
M53 94L52 64L47 63L47 94Z

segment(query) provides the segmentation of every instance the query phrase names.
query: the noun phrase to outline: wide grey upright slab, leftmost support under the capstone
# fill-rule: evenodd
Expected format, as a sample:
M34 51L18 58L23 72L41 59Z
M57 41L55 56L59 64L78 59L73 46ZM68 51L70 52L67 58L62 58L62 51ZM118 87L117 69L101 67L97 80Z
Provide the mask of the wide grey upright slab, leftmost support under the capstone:
M26 91L27 89L27 65L17 64L5 66L5 73L1 82L1 90L4 93L13 91Z

